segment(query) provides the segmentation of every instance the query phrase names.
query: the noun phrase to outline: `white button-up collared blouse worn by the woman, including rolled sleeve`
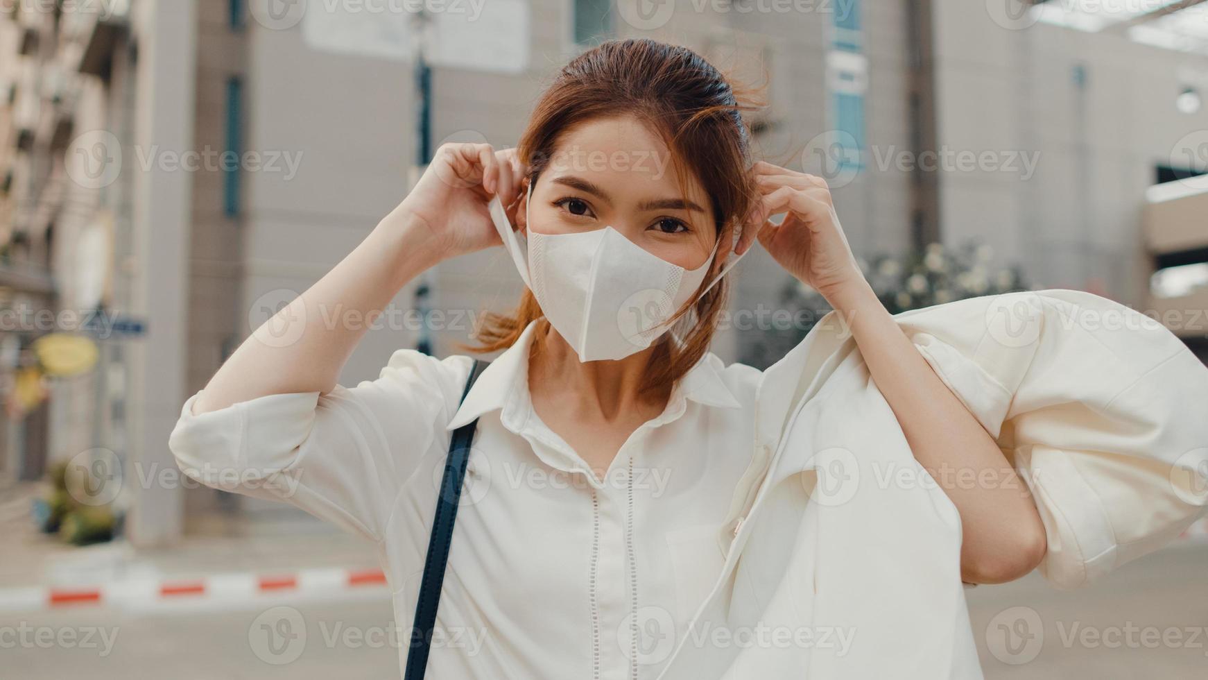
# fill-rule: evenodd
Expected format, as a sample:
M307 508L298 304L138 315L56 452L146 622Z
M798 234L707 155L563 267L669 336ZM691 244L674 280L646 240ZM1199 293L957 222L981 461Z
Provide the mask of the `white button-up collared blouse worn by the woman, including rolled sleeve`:
M721 574L753 465L760 371L708 354L603 480L533 409L535 325L458 400L469 356L394 353L376 380L203 414L170 448L215 488L277 499L372 539L400 666L452 430L480 418L429 678L655 678Z

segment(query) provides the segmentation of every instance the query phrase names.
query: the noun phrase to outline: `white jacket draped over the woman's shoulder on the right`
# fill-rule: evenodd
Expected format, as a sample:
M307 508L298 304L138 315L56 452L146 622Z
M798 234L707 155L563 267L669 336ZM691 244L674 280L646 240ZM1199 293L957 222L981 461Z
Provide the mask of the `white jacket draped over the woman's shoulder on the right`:
M895 319L1029 484L1055 586L1093 581L1203 513L1208 368L1156 321L1067 290ZM660 678L981 678L960 518L836 314L767 370L759 405L739 528Z

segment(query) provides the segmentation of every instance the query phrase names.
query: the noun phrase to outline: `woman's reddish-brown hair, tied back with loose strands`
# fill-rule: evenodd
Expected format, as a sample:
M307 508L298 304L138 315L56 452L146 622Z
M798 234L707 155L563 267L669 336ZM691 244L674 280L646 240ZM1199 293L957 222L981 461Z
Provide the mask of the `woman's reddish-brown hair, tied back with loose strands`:
M755 192L750 176L750 139L736 88L712 64L686 47L647 39L614 40L583 52L542 93L517 145L519 159L535 182L559 139L588 121L635 116L667 145L681 187L691 173L709 196L720 240L709 280L731 251L734 228L748 214ZM686 194L686 192L685 192ZM695 295L676 320L691 324L683 343L662 336L643 390L674 384L708 351L727 281ZM483 315L476 351L511 347L524 327L542 315L528 289L511 314ZM544 329L542 329L544 330ZM544 332L541 333L544 335Z

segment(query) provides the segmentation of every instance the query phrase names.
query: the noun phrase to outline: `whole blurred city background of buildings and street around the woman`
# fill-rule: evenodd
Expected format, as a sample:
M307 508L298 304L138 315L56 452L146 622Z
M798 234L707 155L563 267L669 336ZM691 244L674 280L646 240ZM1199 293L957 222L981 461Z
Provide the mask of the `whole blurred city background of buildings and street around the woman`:
M168 434L436 146L515 145L626 36L765 88L759 155L830 181L893 310L1087 290L1208 359L1201 0L0 0L0 678L399 676L376 547L198 488ZM761 250L733 280L727 361L820 310ZM341 382L459 351L521 285L501 250L441 265ZM1080 592L976 588L986 674L1208 678L1206 574L1197 525Z

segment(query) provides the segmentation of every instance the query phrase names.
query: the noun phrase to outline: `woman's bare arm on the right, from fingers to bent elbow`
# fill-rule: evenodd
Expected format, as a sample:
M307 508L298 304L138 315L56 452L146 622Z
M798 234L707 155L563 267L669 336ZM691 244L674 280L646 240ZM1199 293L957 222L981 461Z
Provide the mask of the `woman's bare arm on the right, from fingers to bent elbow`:
M749 223L759 227L760 243L843 315L914 458L960 512L963 579L1001 583L1032 571L1047 539L1027 486L877 300L847 244L826 182L769 163L757 163L754 172L763 199ZM767 221L779 213L788 213L782 223Z

